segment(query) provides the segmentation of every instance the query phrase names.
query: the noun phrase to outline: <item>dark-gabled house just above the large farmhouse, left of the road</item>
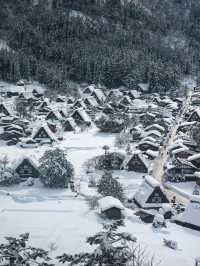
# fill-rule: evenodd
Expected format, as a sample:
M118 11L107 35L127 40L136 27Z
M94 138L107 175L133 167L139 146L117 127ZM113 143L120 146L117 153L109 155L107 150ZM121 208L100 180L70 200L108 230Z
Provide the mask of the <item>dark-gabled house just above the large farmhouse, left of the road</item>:
M128 171L148 173L149 163L139 151L131 154L124 160L123 168Z

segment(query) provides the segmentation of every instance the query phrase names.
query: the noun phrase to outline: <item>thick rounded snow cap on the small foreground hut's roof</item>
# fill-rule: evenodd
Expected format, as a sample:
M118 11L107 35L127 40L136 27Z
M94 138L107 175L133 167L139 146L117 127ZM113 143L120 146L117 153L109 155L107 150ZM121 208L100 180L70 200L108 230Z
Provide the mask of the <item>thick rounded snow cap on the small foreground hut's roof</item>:
M124 210L124 206L120 200L113 198L111 196L104 197L98 201L99 208L102 212L107 211L111 208L118 208Z

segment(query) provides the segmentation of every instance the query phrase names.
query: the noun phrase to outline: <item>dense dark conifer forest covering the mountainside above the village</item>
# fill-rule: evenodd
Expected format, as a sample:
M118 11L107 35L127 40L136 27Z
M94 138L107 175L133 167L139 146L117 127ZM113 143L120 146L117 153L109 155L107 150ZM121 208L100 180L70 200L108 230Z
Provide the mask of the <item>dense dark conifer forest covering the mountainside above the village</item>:
M0 79L167 92L200 67L196 0L0 1Z

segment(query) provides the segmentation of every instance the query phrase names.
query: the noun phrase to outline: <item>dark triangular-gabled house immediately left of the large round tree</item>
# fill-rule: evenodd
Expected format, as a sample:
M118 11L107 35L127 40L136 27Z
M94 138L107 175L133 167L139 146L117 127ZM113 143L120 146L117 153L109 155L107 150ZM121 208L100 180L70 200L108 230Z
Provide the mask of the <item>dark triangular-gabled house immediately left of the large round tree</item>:
M14 166L14 170L21 179L40 177L37 163L28 157L23 157L18 160Z

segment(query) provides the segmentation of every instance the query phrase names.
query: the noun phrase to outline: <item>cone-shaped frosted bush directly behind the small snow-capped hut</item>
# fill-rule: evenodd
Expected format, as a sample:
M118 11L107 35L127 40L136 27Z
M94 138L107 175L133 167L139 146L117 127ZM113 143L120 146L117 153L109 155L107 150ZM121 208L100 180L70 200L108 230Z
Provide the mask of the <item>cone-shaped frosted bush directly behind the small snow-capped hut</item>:
M103 196L112 196L124 201L124 191L121 184L112 177L111 172L105 172L98 184L98 193Z

